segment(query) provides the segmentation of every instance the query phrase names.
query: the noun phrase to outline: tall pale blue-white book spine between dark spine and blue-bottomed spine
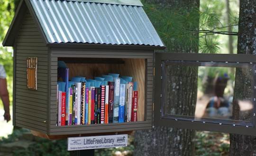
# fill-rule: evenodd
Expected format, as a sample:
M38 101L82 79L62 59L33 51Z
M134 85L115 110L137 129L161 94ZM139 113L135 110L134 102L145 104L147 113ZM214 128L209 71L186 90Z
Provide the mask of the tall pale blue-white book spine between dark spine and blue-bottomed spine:
M113 111L113 123L118 123L119 116L119 100L120 100L120 78L114 78L114 111Z

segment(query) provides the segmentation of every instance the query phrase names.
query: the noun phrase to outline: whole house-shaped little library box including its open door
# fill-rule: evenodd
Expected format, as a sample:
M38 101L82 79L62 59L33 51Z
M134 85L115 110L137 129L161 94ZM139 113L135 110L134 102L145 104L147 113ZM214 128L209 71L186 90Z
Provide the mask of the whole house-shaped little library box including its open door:
M165 45L140 0L21 0L3 45L14 48L13 124L36 135L256 135L256 56L155 52ZM246 76L247 97L233 99L229 71Z

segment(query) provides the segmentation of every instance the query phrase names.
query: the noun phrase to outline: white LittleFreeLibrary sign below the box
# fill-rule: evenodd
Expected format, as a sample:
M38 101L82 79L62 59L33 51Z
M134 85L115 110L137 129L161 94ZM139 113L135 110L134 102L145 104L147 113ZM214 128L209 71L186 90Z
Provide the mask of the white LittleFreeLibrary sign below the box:
M126 147L127 144L128 134L122 134L68 138L67 146L68 151L73 151L96 148Z

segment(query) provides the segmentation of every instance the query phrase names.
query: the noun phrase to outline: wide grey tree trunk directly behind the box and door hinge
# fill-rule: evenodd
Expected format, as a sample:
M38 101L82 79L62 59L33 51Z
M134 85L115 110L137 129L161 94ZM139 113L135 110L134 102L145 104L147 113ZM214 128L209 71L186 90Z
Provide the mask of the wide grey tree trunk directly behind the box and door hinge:
M181 9L190 13L199 9L199 0L146 0L168 9ZM150 17L149 17L150 18ZM171 19L170 19L171 20ZM198 21L191 29L198 30ZM198 34L194 34L198 36ZM171 40L167 49L169 52L198 52L198 46L184 46L176 38ZM165 42L165 40L164 40ZM168 44L169 45L169 44ZM180 115L194 115L197 98L197 69L186 68L166 69L166 78L172 83L166 87L167 100L165 107L167 113ZM174 77L175 75L175 77ZM173 83L175 82L175 83ZM173 86L175 84L175 86ZM174 90L171 88L175 88ZM184 104L184 105L183 105ZM186 105L189 104L189 105ZM171 111L174 109L174 111ZM168 127L153 127L152 130L139 130L135 132L135 156L193 156L194 155L194 130L174 129Z

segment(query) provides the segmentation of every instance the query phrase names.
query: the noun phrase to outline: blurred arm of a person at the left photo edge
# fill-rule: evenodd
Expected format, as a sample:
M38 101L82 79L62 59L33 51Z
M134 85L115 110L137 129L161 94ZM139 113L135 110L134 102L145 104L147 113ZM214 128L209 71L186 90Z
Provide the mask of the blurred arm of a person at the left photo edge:
M7 90L6 72L2 65L0 65L0 99L4 105L4 120L8 122L10 121L10 102Z

